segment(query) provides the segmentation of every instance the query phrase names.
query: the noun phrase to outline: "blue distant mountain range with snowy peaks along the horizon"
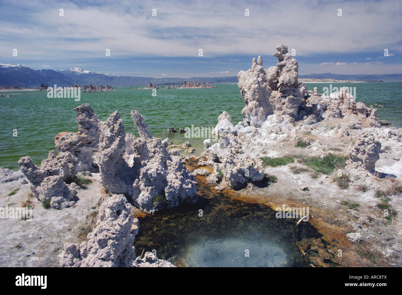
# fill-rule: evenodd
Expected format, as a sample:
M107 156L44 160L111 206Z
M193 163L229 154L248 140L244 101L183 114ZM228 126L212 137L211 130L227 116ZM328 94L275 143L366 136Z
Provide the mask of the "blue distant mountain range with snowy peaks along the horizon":
M386 75L341 75L341 74L309 74L299 75L300 79L336 79L336 80L380 80L386 82L402 81L401 74ZM237 83L237 76L230 77L192 77L192 78L152 78L131 77L86 71L78 67L68 70L31 69L25 65L0 63L0 86L39 87L42 83L48 86L57 84L59 87L71 86L74 83L80 85L98 84L99 86L111 84L112 86L142 86L147 82L168 85L171 83L183 84L184 81L205 81L214 84Z

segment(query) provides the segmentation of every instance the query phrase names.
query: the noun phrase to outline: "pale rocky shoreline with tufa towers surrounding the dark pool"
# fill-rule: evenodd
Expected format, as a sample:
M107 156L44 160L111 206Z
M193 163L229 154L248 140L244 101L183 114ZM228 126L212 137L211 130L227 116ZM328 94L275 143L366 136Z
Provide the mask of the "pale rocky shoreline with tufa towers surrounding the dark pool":
M150 252L135 257L139 222L133 205L153 214L194 203L196 177L202 177L214 191L237 191L273 209L287 204L311 208L310 224L323 238L298 244L311 266L401 266L402 128L382 126L376 109L355 102L346 87L329 96L307 90L287 47L276 49L276 66L264 69L258 57L251 69L240 71L244 120L234 125L224 111L213 130L219 141L211 145L211 139L205 140L201 157L169 150L174 146L168 138L152 137L136 110L131 117L137 138L125 133L118 111L100 121L89 104L82 104L74 109L78 132L55 136L58 154L50 151L39 167L22 157L20 171L0 170L1 193L19 188L1 205L23 202L29 193L32 205L52 208L36 208L38 221L27 226L29 235L54 218L55 229L47 230L47 238L64 246L51 254L52 266L58 257L63 267L171 267ZM193 172L186 167L189 161L197 163ZM77 184L85 178L91 181L88 191ZM67 213L59 212L79 217L63 222L59 216ZM39 238L33 235L31 246L12 248L16 236L10 230L20 221L3 222L10 223L2 227L2 236L10 240L0 249L3 256L11 252L8 263L33 266L39 260L31 257L35 254L21 258L18 251L39 246ZM83 223L91 231L84 241L74 241L77 232L68 232ZM57 231L63 239L54 236Z

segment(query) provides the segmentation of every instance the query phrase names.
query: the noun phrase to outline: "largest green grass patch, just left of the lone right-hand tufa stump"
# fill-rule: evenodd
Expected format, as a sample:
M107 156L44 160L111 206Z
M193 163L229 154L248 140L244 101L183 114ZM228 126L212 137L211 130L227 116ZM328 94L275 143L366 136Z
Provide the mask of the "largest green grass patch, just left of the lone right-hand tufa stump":
M300 162L310 167L314 171L322 174L331 174L335 169L345 167L347 156L328 155L326 157L301 157Z

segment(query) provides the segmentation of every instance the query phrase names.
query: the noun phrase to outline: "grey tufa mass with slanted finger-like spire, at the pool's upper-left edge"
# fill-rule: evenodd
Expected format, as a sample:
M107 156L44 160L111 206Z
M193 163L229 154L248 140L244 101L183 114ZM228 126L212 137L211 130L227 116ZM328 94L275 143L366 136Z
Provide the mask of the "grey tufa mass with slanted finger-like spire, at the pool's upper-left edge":
M137 111L131 115L139 138L125 134L119 112L103 124L98 162L105 189L128 194L137 207L150 213L194 202L198 195L195 177L174 156L176 151L168 151L168 139L150 137L144 118ZM155 202L157 196L164 201Z

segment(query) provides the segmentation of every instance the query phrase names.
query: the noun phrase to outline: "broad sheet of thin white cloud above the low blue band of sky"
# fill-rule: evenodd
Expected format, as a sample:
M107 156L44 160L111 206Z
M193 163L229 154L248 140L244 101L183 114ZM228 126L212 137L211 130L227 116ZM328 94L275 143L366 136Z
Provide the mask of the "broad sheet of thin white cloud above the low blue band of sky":
M198 2L161 1L155 4L156 17L149 5L126 0L93 6L62 0L58 4L64 7L64 17L49 13L39 0L23 2L24 13L14 2L2 1L4 11L15 17L0 19L1 56L9 55L8 48L21 48L31 59L105 57L106 48L112 57L197 57L199 48L205 57L267 50L271 54L278 44L296 49L298 55L402 49L398 0L339 2L343 17L337 16L332 1L300 1L287 6L289 22L277 22L279 0L267 5L251 2L249 17L242 5L228 0L206 2L203 9Z

